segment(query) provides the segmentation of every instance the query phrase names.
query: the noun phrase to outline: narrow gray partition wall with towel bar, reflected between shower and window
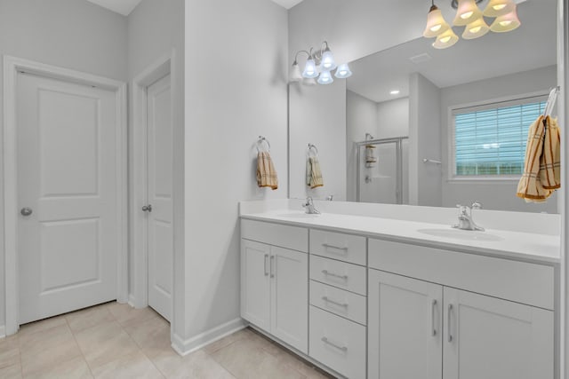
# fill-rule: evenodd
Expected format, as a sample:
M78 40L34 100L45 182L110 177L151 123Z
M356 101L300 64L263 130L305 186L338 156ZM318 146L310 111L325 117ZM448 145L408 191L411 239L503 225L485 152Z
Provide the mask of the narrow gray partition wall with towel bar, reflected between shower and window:
M442 202L441 167L422 160L441 160L440 90L415 73L409 92L409 203L437 207Z

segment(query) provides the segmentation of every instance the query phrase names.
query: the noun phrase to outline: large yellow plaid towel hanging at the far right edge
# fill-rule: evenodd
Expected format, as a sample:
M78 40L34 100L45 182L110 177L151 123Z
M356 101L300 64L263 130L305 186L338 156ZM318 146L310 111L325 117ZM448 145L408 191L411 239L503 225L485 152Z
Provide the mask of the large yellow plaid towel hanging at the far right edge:
M525 199L526 202L543 202L556 188L559 188L558 146L557 122L552 122L549 116L545 119L540 116L533 122L527 136L524 174L517 184L518 197Z

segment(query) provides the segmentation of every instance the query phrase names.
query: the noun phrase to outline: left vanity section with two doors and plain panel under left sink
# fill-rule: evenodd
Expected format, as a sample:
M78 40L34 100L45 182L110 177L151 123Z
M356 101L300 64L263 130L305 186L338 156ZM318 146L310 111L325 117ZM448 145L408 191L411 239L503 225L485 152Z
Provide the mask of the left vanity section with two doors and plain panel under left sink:
M308 231L251 220L241 226L241 317L308 354Z

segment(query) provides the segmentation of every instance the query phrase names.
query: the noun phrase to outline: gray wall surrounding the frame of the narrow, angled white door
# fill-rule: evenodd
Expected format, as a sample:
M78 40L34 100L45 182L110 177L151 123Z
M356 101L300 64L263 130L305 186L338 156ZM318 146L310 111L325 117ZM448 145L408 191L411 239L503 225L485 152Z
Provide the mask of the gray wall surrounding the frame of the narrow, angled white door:
M152 66L158 59L172 54L172 108L173 108L173 156L174 171L183 172L184 167L184 0L160 1L142 0L142 2L128 16L128 76L129 82L140 75L147 67ZM132 87L131 87L132 88ZM132 102L130 107L129 135L132 135ZM130 142L131 143L131 142ZM132 157L132 155L131 155ZM132 170L130 176L132 187ZM184 250L184 181L182 175L173 176L173 217L174 217L174 269L177 270L175 278L183 283L185 272ZM130 245L132 247L132 244ZM129 289L133 288L133 262L132 256L140 254L139 251L129 250ZM174 314L173 326L176 332L183 333L186 318L184 315L183 293L174 293L177 306ZM180 306L178 306L180 305ZM181 321L181 322L179 322ZM180 331L181 330L181 331Z

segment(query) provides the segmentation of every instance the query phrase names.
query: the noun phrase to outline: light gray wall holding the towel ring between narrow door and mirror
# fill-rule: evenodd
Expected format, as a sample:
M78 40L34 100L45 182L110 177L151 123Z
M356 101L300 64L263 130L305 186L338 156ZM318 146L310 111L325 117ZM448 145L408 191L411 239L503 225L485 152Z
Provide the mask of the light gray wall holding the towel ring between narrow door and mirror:
M221 11L220 11L221 10ZM185 8L185 343L239 319L238 201L287 197L287 12L267 0ZM268 138L279 187L255 181Z

